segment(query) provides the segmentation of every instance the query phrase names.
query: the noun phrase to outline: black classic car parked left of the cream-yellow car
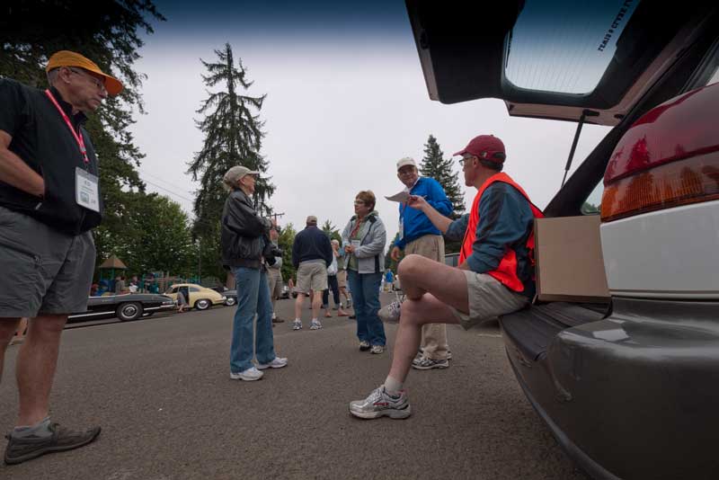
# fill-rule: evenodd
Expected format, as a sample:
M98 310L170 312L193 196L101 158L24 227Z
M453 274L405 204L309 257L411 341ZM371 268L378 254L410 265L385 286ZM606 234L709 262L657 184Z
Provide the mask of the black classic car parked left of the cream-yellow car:
M123 322L151 316L159 310L175 307L173 298L155 293L129 293L87 298L87 311L67 317L69 322L84 322L117 316Z

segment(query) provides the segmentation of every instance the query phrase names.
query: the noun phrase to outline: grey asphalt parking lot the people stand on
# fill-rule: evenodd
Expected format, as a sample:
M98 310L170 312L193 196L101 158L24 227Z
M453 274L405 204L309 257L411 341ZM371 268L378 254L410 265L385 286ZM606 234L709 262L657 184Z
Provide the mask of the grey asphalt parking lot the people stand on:
M293 300L278 302L283 318L292 308ZM360 352L346 317L310 331L305 309L302 331L288 322L274 329L288 367L259 382L233 381L233 313L215 307L71 325L52 417L100 424L102 434L83 449L0 466L0 478L587 478L522 394L496 324L449 328L451 367L411 373L409 419L360 421L347 404L384 380L391 351ZM386 330L391 345L395 325ZM0 385L4 431L17 409L17 348L8 349Z

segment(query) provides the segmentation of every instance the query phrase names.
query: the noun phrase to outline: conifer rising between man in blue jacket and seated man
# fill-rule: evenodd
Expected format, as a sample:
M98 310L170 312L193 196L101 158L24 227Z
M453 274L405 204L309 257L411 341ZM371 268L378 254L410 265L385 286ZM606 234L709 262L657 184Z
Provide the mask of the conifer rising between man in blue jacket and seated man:
M452 159L444 159L444 153L439 148L437 138L430 135L427 143L424 144L424 157L420 163L420 173L435 179L447 193L447 198L452 202L454 211L450 218L456 219L465 212L465 193L459 186L459 173L452 170ZM450 241L445 239L445 251L447 253L459 252L462 246L461 241Z

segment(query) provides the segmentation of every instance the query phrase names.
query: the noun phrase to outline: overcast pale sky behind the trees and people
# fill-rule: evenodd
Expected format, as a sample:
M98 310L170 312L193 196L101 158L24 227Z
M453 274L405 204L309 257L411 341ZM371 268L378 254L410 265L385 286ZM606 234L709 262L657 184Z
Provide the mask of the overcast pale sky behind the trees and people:
M505 171L539 207L559 189L576 125L510 118L493 99L432 102L404 2L366 2L362 12L344 3L155 4L167 22L155 23L139 51L147 114L132 130L146 153L139 171L148 190L188 212L197 185L185 172L203 142L195 111L208 96L200 58L215 61L213 50L225 42L254 82L249 94L267 93L261 153L277 187L270 204L285 214L280 225L301 228L316 215L342 229L355 194L369 189L390 241L397 210L383 196L403 188L395 162L413 156L419 163L430 134L445 157L475 135L493 134L507 147ZM607 131L585 126L574 166ZM471 205L475 189L465 190Z

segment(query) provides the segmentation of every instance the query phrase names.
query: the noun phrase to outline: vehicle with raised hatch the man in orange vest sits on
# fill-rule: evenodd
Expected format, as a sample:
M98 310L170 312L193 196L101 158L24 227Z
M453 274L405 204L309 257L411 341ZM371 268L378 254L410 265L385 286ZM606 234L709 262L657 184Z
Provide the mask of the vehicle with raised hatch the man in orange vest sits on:
M432 100L492 97L513 117L578 123L555 165L507 145L510 171L556 168L548 220L595 216L607 286L604 301L546 299L500 319L529 402L594 478L715 478L719 4L406 5ZM584 123L611 129L567 179ZM573 289L587 271L561 253L546 268Z

